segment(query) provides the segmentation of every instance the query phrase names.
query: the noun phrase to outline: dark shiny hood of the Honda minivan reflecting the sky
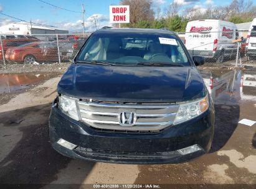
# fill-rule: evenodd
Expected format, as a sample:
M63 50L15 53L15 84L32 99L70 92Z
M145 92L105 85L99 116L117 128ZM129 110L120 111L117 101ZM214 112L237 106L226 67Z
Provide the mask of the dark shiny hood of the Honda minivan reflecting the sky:
M195 67L122 67L72 64L58 93L103 101L178 102L206 95Z

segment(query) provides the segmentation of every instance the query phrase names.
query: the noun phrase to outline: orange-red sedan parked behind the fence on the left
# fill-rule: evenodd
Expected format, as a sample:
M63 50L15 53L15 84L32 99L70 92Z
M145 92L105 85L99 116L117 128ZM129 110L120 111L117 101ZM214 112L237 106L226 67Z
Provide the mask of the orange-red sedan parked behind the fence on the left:
M58 48L52 42L32 42L15 48L8 48L5 58L12 62L52 62L59 60Z

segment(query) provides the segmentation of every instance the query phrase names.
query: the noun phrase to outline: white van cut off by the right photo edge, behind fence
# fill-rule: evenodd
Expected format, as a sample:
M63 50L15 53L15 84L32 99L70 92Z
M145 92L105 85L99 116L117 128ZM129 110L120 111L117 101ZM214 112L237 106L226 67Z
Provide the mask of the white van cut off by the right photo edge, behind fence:
M251 60L256 56L256 18L250 24L245 47L247 48L247 57Z

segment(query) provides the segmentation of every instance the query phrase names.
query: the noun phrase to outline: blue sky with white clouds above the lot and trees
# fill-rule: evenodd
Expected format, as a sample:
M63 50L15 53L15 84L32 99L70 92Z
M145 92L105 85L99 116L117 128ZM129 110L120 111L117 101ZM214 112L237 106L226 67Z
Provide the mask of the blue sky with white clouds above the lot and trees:
M90 32L95 29L91 16L97 15L97 26L102 27L109 24L109 6L118 5L116 0L44 0L55 6L69 9L65 11L57 7L45 4L39 0L1 0L0 12L19 19L63 27L70 31L82 29L82 4L85 6L85 29ZM153 0L154 7L164 10L171 2L178 2L184 6L194 6L204 9L207 6L220 6L229 4L231 0ZM74 12L71 12L74 11ZM9 24L16 19L0 14L0 25Z

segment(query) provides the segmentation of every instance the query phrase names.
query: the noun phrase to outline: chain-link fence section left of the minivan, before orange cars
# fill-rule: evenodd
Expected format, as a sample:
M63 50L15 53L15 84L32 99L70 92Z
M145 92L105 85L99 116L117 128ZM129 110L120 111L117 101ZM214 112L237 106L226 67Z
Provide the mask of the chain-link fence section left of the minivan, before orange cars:
M0 35L0 60L4 65L71 62L89 35Z

